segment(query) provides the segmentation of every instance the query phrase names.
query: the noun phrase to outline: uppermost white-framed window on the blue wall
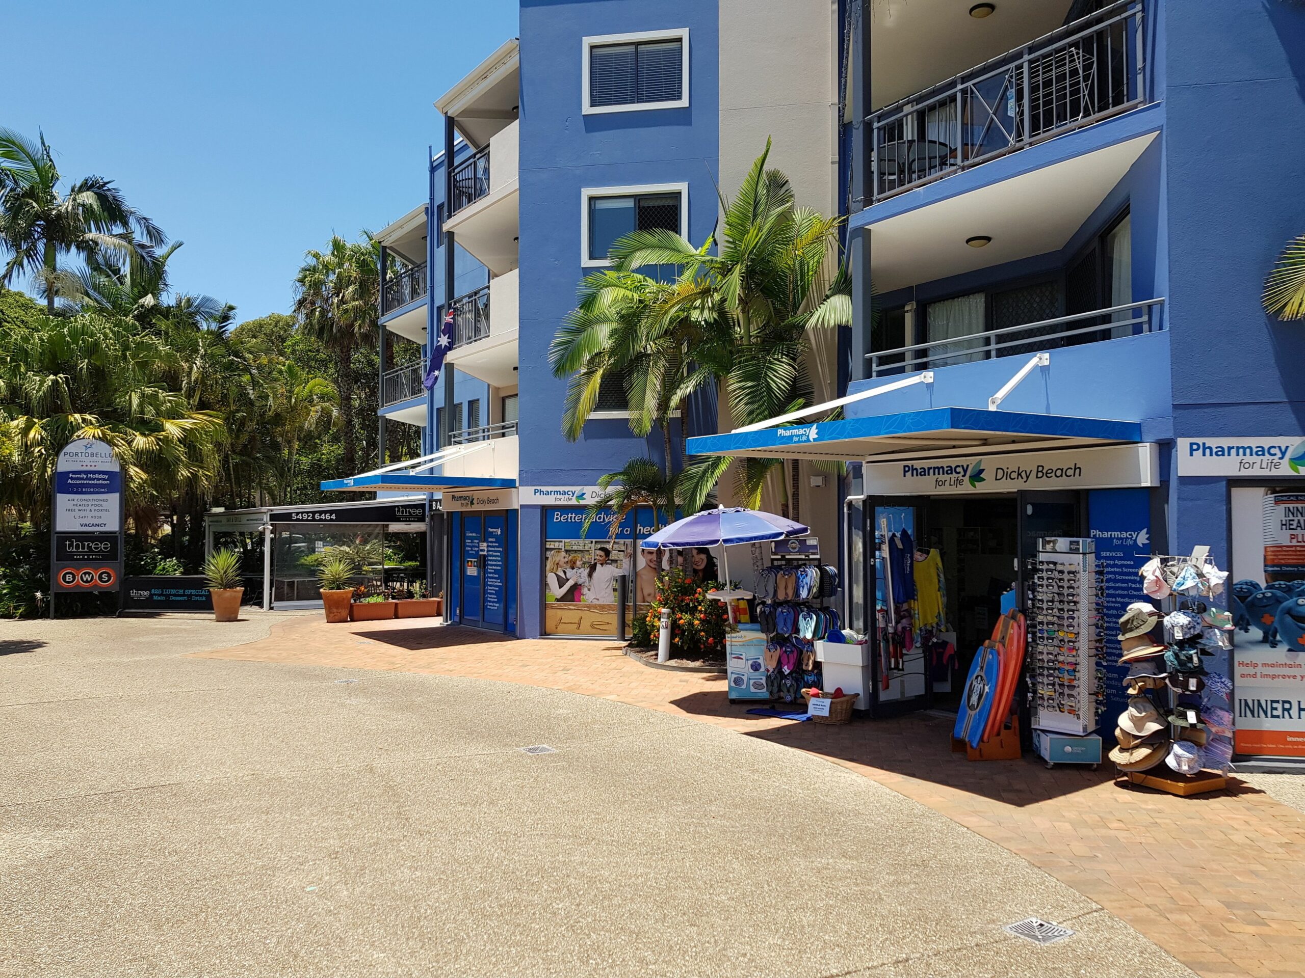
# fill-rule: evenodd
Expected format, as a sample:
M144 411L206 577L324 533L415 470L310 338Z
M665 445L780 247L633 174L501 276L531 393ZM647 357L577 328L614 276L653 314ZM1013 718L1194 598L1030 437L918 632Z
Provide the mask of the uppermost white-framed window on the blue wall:
M585 113L689 104L689 31L585 38Z

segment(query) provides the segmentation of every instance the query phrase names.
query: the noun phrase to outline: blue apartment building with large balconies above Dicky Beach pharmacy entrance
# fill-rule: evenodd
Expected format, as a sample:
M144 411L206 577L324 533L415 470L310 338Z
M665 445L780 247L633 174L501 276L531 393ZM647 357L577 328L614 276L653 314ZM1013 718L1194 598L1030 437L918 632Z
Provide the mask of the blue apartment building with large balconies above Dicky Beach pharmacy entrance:
M1143 597L1150 554L1208 546L1229 585L1305 580L1305 333L1261 308L1305 227L1305 10L852 12L844 420L689 451L853 463L853 625L874 630L870 556L908 527L942 554L962 655L1028 583L1040 537L1095 541L1107 626ZM1259 623L1211 665L1237 685L1237 751L1305 756L1305 640Z

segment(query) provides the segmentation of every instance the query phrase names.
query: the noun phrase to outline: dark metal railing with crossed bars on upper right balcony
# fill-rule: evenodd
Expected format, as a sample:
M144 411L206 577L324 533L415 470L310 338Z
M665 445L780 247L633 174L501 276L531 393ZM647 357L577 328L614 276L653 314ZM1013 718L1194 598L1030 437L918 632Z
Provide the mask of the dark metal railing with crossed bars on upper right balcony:
M1142 51L1121 0L874 112L872 202L1142 104Z

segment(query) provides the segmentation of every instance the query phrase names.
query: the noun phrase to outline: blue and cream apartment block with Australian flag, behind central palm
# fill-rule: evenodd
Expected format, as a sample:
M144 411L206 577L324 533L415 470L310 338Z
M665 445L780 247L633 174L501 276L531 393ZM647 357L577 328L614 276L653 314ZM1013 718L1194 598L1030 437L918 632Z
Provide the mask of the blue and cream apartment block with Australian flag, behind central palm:
M757 21L758 9L769 17ZM634 456L662 463L662 438L630 433L612 385L582 437L566 441L566 385L548 344L621 235L666 227L707 240L718 185L737 185L767 137L803 202L838 207L839 12L523 0L521 37L435 100L445 129L429 197L378 236L382 342L422 348L382 377L381 424L420 426L422 456L324 488L438 501L432 583L448 621L530 638L616 634L607 578L633 578L647 520L630 518L612 542L611 520L583 539L581 523L599 477ZM428 338L449 309L453 347L427 391ZM715 432L714 404L694 415L676 425ZM806 499L814 510L823 498L831 515L837 486L823 481ZM568 574L596 569L600 548L608 570L585 576L602 583L566 587Z

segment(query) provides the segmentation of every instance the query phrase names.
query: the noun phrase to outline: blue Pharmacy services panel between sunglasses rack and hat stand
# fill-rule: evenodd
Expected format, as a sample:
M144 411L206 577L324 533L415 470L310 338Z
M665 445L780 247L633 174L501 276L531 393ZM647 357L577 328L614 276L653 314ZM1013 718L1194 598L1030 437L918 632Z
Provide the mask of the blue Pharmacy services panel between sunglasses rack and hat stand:
M1094 489L1087 494L1088 533L1096 544L1096 566L1105 584L1105 700L1099 729L1107 743L1114 742L1114 720L1128 707L1120 665L1120 615L1134 601L1146 601L1138 571L1151 553L1151 493L1148 489Z

